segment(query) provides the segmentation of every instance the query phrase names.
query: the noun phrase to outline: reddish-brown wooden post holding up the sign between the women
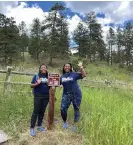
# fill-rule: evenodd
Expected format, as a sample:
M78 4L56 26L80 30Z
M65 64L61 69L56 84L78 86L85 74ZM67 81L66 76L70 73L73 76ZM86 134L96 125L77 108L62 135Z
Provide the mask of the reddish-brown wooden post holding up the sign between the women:
M48 108L48 130L53 128L54 123L54 103L55 103L55 87L49 89L49 108Z

